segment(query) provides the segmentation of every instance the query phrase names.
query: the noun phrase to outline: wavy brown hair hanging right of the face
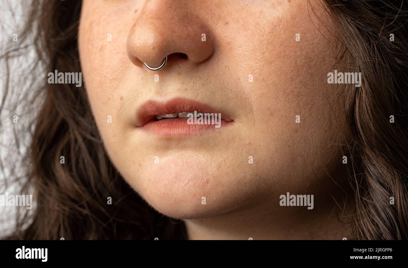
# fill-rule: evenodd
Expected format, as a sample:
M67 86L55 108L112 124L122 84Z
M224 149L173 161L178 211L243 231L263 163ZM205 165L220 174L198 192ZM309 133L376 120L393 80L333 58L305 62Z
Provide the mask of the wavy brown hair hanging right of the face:
M344 91L353 133L349 146L354 160L350 183L356 198L355 239L407 239L407 4L325 2L339 27L338 61L362 77L361 87ZM391 197L395 204L390 204Z

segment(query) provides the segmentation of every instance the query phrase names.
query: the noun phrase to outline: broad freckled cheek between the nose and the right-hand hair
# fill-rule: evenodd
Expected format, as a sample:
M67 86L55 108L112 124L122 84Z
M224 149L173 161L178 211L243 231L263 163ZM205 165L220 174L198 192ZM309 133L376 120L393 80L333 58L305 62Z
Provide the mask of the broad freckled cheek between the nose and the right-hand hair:
M330 144L337 141L339 129L346 130L342 118L330 109L338 98L337 89L327 84L336 56L333 35L323 25L330 22L320 22L313 13L309 17L306 4L288 6L282 17L265 21L243 37L245 51L257 51L256 60L242 52L246 77L253 77L253 82L244 81L253 107L252 133L262 148L254 157L268 167L264 175L312 180L313 168L317 173L322 167L336 168L330 163L341 159L341 152ZM332 157L327 157L329 152Z

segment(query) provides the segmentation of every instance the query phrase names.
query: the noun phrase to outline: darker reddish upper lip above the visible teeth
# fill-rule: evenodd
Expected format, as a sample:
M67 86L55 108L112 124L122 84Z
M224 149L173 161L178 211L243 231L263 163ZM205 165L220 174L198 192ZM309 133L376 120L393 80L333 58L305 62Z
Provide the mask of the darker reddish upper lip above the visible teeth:
M214 109L208 104L198 102L196 100L189 100L186 98L173 98L166 102L159 102L149 100L140 106L137 111L136 126L144 126L156 115L166 115L169 113L183 113L197 111L201 113L220 113L221 118L226 121L233 121L230 115L223 109Z

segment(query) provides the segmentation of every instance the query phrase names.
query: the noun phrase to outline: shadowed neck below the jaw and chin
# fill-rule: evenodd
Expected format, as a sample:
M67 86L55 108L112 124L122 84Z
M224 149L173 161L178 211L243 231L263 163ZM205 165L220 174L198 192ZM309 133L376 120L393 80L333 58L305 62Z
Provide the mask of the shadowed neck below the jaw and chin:
M262 202L199 219L185 219L188 239L343 239L351 237L353 202L330 195L307 206ZM278 204L276 204L278 203Z

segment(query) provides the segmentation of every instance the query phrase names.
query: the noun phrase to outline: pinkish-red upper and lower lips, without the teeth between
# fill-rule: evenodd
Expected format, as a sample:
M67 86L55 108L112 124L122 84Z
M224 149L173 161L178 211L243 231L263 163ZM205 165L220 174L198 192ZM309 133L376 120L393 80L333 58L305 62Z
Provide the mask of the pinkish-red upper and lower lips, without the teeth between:
M187 124L188 118L168 118L156 120L156 115L165 115L169 113L183 113L197 111L201 113L220 113L221 125L219 128L215 124ZM187 98L173 98L166 102L149 100L145 102L137 111L136 123L138 128L148 131L155 135L174 136L174 135L193 135L215 131L224 128L233 123L233 118L224 109L215 109L208 104L189 100Z

